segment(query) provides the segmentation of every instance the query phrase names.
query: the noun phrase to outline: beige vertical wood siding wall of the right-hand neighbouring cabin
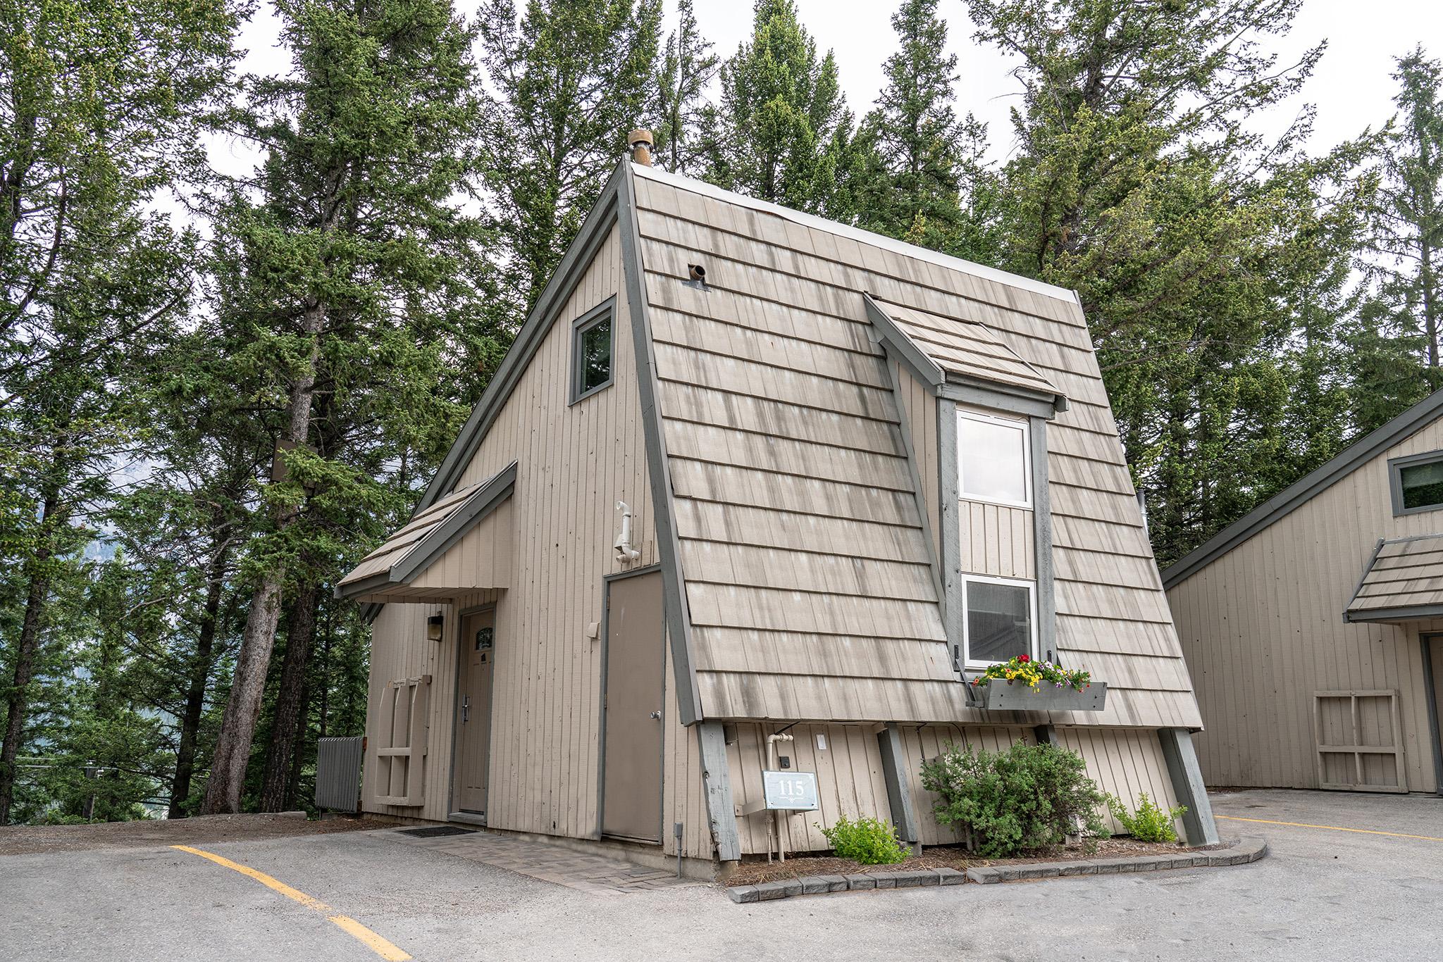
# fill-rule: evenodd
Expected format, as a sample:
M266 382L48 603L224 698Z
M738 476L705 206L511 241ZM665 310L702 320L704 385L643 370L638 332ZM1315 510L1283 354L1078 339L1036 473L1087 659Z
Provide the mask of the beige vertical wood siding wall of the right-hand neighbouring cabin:
M1439 449L1436 421L1169 590L1209 785L1319 787L1313 692L1397 689L1407 785L1436 789L1418 632L1443 622L1349 625L1342 612L1380 538L1443 528L1439 512L1395 518L1388 492L1390 457Z

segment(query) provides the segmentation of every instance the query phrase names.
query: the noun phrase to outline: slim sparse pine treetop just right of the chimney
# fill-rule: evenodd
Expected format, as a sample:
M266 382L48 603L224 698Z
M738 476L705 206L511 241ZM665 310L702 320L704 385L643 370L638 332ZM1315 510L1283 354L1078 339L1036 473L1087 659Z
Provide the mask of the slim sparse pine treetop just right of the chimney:
M672 173L696 176L706 159L706 134L716 117L704 102L707 85L717 75L722 58L701 36L693 0L677 4L677 29L667 37L651 107L657 137L657 160Z

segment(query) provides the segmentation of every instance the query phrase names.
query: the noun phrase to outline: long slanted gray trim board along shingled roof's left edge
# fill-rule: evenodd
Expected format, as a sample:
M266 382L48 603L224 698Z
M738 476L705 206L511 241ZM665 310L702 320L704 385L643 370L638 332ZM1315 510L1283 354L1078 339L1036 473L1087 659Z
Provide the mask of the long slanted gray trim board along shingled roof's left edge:
M636 192L632 164L623 160L619 169L618 222L622 232L622 274L626 283L626 303L631 307L632 345L636 350L636 389L641 394L641 423L646 438L646 466L651 475L651 503L657 516L657 550L661 554L662 601L667 610L667 639L671 643L671 663L677 678L677 705L681 724L693 725L704 717L697 691L696 659L691 645L691 614L687 588L681 574L681 542L671 500L671 464L667 460L667 436L657 407L657 355L651 339L651 313L646 306L646 284L641 270L641 228L636 224Z

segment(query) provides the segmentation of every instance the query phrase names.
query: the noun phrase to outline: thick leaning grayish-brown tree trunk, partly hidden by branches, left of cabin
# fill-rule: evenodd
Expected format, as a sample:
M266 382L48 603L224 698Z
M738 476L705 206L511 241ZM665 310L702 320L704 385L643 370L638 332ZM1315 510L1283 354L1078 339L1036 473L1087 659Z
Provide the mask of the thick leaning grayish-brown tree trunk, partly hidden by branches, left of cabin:
M333 218L333 212L332 212ZM332 219L333 222L333 219ZM330 226L329 224L325 226ZM310 299L306 304L303 329L310 335L310 358L303 372L291 384L289 424L284 440L302 446L310 433L310 407L316 391L316 362L320 358L320 332L326 323L326 301ZM284 531L296 519L294 508L276 511L276 528ZM221 736L211 760L211 779L205 786L202 815L221 815L241 809L241 789L245 785L245 764L251 757L255 720L261 714L266 695L266 672L271 649L276 648L276 623L280 620L281 588L286 565L277 564L255 586L251 607L245 614L245 633L235 656L231 698L225 702Z

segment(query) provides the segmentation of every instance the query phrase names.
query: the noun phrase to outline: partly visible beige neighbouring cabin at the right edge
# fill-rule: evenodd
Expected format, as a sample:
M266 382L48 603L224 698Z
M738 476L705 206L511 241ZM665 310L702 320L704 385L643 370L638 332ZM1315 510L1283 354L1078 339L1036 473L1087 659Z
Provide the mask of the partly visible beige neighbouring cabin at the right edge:
M1443 790L1443 392L1163 573L1208 785Z

